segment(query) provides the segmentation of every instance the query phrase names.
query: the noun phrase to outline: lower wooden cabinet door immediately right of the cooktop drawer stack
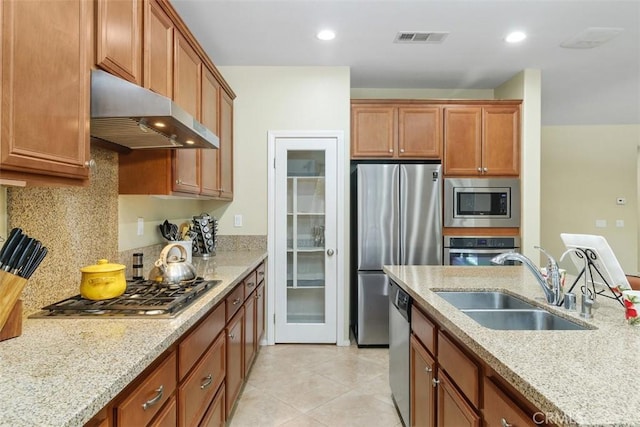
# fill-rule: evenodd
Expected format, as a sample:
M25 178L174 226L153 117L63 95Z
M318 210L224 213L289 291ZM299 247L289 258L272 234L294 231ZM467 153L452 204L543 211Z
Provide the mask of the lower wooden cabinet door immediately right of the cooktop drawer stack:
M242 380L244 379L244 363L242 360L242 352L244 350L242 327L244 324L244 308L240 308L236 315L227 324L227 367L226 367L226 397L225 411L231 413L231 408L235 403Z

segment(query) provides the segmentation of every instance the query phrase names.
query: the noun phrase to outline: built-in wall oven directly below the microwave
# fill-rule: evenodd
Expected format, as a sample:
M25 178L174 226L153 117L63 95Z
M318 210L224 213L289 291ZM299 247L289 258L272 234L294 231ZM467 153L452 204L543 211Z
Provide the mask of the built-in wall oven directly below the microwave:
M517 236L445 236L444 265L491 265L491 258L503 252L520 252ZM514 265L508 261L505 265Z

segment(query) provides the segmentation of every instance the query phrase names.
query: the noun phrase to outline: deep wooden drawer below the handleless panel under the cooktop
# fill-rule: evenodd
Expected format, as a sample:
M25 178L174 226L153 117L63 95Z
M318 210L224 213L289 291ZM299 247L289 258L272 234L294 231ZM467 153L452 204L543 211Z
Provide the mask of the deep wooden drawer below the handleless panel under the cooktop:
M219 334L209 351L178 389L180 425L196 426L225 376L225 335Z

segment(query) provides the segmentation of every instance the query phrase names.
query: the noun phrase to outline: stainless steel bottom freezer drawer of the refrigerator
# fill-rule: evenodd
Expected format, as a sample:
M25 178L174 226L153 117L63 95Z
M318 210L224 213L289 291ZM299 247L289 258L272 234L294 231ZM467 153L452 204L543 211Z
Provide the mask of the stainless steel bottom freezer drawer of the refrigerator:
M358 273L359 346L389 344L389 279L382 272Z

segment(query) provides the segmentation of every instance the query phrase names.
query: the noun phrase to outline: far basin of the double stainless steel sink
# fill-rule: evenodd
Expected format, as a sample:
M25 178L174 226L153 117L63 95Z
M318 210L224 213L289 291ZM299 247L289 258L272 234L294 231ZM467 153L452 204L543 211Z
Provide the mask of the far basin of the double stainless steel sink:
M460 310L466 309L537 309L523 299L499 291L440 291L436 295Z

